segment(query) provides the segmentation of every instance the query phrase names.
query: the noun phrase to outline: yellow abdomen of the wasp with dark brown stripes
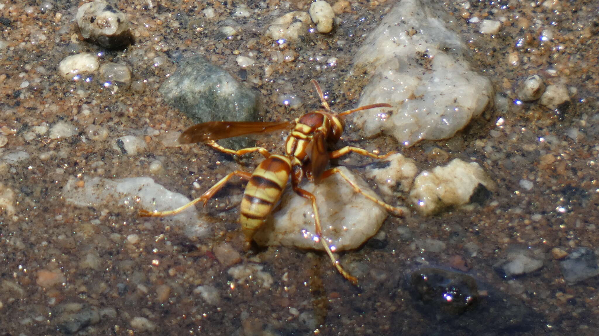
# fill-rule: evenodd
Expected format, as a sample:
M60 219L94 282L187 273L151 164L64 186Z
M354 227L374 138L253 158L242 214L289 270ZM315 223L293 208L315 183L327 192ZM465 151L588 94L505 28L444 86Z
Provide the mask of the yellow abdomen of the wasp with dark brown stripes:
M241 230L249 242L279 202L291 173L291 161L283 155L271 155L252 173L240 207Z

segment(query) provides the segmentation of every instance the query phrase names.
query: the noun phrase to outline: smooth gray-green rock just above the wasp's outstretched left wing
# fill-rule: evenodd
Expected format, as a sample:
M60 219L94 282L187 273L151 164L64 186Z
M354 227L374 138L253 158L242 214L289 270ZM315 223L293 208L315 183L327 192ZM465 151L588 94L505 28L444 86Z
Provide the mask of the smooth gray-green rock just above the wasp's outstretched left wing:
M177 71L159 91L170 105L196 123L256 118L256 92L202 56L181 60Z

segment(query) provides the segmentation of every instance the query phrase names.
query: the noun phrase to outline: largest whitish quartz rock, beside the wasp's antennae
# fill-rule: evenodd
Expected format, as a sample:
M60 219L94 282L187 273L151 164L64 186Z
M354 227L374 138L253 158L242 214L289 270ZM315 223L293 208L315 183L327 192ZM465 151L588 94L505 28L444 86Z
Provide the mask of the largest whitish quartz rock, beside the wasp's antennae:
M447 28L447 14L428 0L399 2L355 57L355 73L373 77L359 106L392 108L356 114L365 135L384 132L403 145L453 136L493 104L491 81L472 71L468 47Z

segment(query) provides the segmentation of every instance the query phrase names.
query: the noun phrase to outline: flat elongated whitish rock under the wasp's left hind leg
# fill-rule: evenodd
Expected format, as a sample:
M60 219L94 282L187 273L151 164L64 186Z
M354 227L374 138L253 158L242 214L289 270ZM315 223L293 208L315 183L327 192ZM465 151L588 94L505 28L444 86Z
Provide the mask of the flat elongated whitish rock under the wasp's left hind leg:
M62 189L67 202L80 207L136 206L145 210L173 210L189 202L189 198L156 184L153 179L124 178L83 178L83 187L77 186L77 179L71 178ZM208 233L208 223L198 218L198 212L191 206L177 215L165 216L162 221L169 225L181 225L188 237L203 237Z

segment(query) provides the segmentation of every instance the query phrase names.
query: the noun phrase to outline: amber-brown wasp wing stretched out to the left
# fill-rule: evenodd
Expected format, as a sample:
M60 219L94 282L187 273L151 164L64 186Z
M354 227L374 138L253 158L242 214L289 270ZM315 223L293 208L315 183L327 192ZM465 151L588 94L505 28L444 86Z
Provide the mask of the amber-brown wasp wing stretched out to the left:
M232 138L234 136L248 135L252 133L266 133L286 129L291 125L290 121L284 122L245 122L245 121L208 121L193 125L186 129L179 137L180 143L207 142Z

